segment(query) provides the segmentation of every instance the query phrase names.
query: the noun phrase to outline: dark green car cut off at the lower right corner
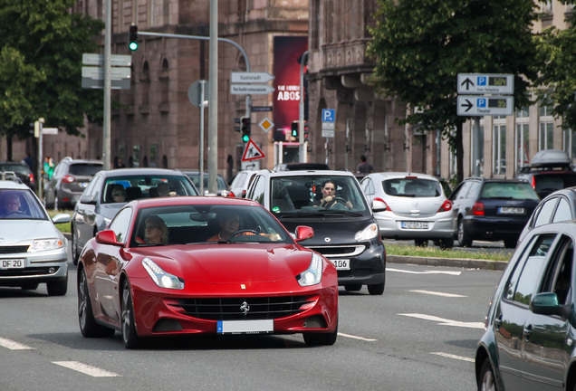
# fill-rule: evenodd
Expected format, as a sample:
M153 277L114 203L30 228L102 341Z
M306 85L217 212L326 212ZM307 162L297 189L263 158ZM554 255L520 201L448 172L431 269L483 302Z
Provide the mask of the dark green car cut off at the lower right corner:
M576 390L575 242L571 221L518 244L476 349L479 390Z

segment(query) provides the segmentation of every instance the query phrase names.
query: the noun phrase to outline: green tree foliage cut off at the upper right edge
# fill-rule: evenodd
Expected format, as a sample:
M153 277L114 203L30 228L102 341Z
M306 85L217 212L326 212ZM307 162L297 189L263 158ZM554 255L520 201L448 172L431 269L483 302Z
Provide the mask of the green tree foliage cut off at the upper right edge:
M563 1L574 4L574 1ZM539 36L542 72L537 80L543 105L552 106L552 115L562 117L563 129L576 129L576 15L571 14L566 30L546 29Z

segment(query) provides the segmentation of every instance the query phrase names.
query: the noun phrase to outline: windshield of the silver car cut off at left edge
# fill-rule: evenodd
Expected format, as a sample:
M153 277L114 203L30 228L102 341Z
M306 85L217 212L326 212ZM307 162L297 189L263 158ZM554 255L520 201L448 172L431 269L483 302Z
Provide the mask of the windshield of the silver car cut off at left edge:
M0 219L48 220L38 198L28 189L0 190Z

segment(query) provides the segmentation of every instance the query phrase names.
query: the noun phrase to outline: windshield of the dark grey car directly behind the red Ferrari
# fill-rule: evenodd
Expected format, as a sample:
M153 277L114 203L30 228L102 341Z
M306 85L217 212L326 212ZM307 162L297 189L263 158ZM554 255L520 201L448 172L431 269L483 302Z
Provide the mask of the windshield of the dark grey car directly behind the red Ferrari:
M122 193L121 198L114 197ZM110 176L102 188L103 204L158 196L197 196L186 176L139 175Z

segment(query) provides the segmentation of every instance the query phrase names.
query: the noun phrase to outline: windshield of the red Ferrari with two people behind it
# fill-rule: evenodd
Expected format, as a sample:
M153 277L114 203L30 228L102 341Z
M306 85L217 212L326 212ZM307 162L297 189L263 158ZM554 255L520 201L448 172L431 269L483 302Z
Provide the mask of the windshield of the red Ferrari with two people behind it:
M206 204L140 209L130 245L273 242L293 239L263 207Z

